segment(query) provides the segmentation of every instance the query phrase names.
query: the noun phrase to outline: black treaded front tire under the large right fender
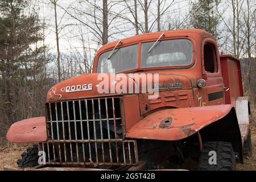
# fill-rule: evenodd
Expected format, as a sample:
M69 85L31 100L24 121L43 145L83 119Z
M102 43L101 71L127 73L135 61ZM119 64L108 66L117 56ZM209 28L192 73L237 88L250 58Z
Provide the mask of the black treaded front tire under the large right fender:
M216 164L209 164L210 151L216 152ZM212 160L210 160L212 161ZM206 142L199 160L200 171L236 171L236 155L229 142Z

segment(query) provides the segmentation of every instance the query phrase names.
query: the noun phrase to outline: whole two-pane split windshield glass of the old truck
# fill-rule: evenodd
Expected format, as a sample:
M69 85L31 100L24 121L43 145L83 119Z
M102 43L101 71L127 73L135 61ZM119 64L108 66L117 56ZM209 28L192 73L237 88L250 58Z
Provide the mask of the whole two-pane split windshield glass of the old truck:
M102 53L98 59L97 73L118 73L138 68L138 47L138 44L134 44ZM193 47L188 39L142 43L141 49L141 68L183 66L192 63ZM113 54L108 59L112 51Z

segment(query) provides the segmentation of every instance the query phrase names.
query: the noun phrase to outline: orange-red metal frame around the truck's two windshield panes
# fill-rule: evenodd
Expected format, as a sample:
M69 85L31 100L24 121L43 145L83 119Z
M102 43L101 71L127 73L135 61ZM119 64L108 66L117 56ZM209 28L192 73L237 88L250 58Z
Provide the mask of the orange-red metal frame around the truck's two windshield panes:
M142 40L142 41L137 41L137 42L133 42L133 43L127 43L127 44L123 43L123 44L121 44L120 46L118 46L116 48L116 49L118 49L118 48L122 48L122 47L127 47L127 46L132 46L132 45L138 44L138 63L137 63L137 68L129 69L129 70L127 69L126 71L117 72L117 73L129 73L129 72L147 71L147 70L159 70L159 69L191 69L192 67L195 66L195 64L196 64L196 57L197 57L197 55L196 55L197 54L197 48L196 48L195 40L193 38L191 38L191 37L188 37L188 36L176 36L176 37L166 37L166 36L164 36L162 39L159 40L159 42L160 41L165 41L165 40L175 40L175 39L187 39L187 40L191 41L191 43L192 43L192 61L191 61L191 64L189 64L189 65L164 66L164 67L141 67L142 43L155 42L157 40L157 39L148 39L148 40ZM113 45L115 46L115 44L113 44ZM100 56L102 55L102 53L105 53L105 52L108 52L108 51L112 51L114 46L110 47L108 49L105 49L104 51L101 51L101 52L97 53L96 57L94 58L93 73L98 73L97 72L98 60L99 60Z

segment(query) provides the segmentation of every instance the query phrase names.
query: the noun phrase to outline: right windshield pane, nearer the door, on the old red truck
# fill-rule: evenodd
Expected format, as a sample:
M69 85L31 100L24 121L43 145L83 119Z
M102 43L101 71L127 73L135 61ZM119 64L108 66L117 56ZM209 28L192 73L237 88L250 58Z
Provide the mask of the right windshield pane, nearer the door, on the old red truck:
M192 62L192 43L188 39L162 40L149 53L155 42L142 43L141 67L170 67Z

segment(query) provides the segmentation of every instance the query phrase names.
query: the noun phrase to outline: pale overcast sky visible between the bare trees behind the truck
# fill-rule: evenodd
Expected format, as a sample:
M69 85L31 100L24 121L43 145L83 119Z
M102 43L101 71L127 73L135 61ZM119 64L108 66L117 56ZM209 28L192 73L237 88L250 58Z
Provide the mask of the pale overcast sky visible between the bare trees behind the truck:
M48 25L46 30L46 44L49 46L49 51L52 53L56 52L56 40L55 40L55 19L54 19L54 10L53 5L50 3L50 0L32 0L36 4L36 8L39 7L39 15L40 19L45 19L46 23ZM72 9L70 9L71 6L76 7L79 6L77 3L79 0L59 0L57 3L59 6L63 7L64 9L67 9L69 13L73 13ZM80 0L81 1L81 0ZM109 0L110 1L110 0ZM155 2L154 2L155 1ZM157 1L154 0L153 2L156 3ZM181 19L183 19L189 11L189 5L191 4L191 1L196 0L175 0L174 4L170 8L170 12L166 14L163 17L163 28L168 28L168 22L172 22L177 16L180 16ZM224 17L226 18L226 21L228 22L231 18L231 11L229 5L226 3L226 1L229 0L222 0L222 3L219 7L219 11L224 11ZM97 0L99 5L101 6L102 0ZM170 0L171 2L171 0ZM79 7L80 9L85 9L86 7ZM115 7L115 9L118 9L118 7ZM156 9L151 9L154 14L156 14ZM86 40L86 46L90 44L90 48L98 48L97 40L94 38L92 34L90 34L90 31L88 28L83 26L81 23L79 23L77 20L69 16L67 13L64 12L60 7L57 7L57 19L60 29L60 52L61 53L69 53L71 49L76 49L76 51L82 52L82 43L81 43L81 36L79 35L80 32L84 34L84 39ZM131 15L128 15L131 16ZM152 18L152 14L151 14ZM131 17L132 19L132 17ZM144 19L143 14L139 14L139 19ZM82 19L85 20L85 19ZM70 25L72 24L72 25ZM74 25L75 24L75 25ZM129 26L129 25L127 25ZM130 24L131 28L133 27ZM222 22L222 26L224 26ZM156 27L155 27L156 30ZM133 28L132 31L127 31L124 34L117 34L112 38L109 38L109 42L116 40L116 39L122 39L125 37L133 36L135 34L135 30Z

